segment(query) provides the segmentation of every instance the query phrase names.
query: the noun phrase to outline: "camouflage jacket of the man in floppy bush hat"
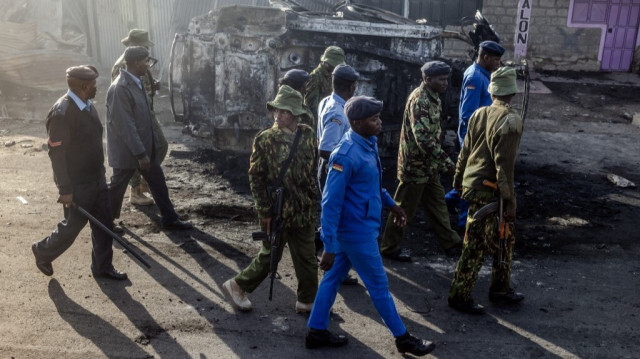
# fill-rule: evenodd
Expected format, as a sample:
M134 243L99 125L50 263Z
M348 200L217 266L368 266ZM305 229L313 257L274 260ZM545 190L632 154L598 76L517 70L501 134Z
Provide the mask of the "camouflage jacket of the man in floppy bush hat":
M284 201L282 220L285 227L313 224L317 218L318 183L316 180L317 141L311 127L300 124L302 131L296 153L282 180ZM294 133L277 125L258 133L253 141L249 164L249 184L260 218L271 216L268 189L275 185L283 162L289 156Z

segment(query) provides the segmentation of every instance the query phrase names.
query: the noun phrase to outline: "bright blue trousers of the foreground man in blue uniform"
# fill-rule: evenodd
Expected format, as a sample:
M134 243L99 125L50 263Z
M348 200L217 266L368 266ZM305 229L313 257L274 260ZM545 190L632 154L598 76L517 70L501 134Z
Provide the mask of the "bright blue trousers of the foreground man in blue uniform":
M394 337L407 332L398 315L396 305L389 292L389 281L382 265L376 238L362 241L339 240L340 251L336 253L333 267L324 274L316 294L311 316L307 325L312 329L327 329L329 314L338 287L349 273L351 266L356 270L369 292L373 305Z

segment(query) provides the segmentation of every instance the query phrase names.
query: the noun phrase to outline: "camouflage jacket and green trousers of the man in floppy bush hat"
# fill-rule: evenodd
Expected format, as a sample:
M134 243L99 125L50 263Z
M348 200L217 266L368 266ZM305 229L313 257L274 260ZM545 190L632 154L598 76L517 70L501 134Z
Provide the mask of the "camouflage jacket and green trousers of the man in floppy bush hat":
M315 181L316 139L307 125L302 131L296 153L282 180L284 201L282 246L288 244L298 279L298 301L312 303L318 290L318 262L315 256L315 222L318 207L318 184ZM283 162L289 156L294 133L273 127L260 132L253 143L249 183L260 219L271 216L268 187L275 184ZM263 243L260 253L234 279L245 292L252 292L269 274L271 246ZM282 255L282 252L279 253Z

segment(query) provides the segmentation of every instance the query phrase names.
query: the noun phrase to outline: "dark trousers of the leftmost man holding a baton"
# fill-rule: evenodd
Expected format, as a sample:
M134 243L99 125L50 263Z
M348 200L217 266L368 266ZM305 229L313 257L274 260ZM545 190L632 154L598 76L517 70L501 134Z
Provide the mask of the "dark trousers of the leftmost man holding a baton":
M113 219L109 206L109 191L104 176L99 181L75 185L73 202L96 217L107 228L112 228ZM64 219L58 223L58 228L51 232L47 238L36 243L36 253L47 262L53 262L71 247L89 220L74 208L63 208ZM91 268L98 273L111 270L113 268L111 263L113 239L97 225L91 223L91 242L93 244Z

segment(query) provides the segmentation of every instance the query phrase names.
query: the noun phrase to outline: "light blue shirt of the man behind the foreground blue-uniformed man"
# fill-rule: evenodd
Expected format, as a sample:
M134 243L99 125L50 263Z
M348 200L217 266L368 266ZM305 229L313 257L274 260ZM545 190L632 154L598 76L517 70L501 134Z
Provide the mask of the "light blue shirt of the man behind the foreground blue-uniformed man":
M342 136L349 131L349 119L344 114L345 100L332 93L318 105L318 149L333 151Z

